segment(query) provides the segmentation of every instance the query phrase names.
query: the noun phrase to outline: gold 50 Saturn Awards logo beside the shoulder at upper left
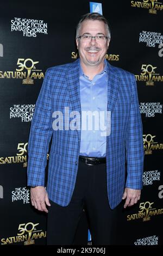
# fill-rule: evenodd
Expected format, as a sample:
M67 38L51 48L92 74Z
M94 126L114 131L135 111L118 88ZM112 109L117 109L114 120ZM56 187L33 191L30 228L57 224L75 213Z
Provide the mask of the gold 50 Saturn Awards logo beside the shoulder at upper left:
M22 79L22 84L34 84L34 80L44 78L42 70L35 67L38 63L30 58L18 58L16 71L0 71L0 78Z

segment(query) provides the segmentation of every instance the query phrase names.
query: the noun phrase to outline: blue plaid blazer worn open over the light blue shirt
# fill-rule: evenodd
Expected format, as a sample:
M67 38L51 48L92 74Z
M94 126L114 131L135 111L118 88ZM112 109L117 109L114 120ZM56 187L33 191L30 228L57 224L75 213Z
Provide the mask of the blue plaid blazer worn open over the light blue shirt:
M114 209L122 200L124 187L141 189L143 172L142 122L135 77L111 66L108 70L108 111L111 133L106 139L108 200ZM47 192L53 202L70 203L79 162L80 130L53 130L54 111L81 114L79 59L47 69L36 102L28 143L28 186L45 186L49 142ZM127 162L127 179L125 178Z

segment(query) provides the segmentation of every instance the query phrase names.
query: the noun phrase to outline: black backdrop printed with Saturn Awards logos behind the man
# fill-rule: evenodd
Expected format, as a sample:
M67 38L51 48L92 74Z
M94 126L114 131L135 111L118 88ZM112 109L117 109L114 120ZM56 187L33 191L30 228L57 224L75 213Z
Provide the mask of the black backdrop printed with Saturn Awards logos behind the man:
M119 208L116 245L163 245L163 1L1 1L0 244L46 245L46 214L30 204L28 137L46 69L78 58L75 27L89 12L111 26L106 59L132 72L143 122L142 196ZM48 155L47 155L48 165ZM76 244L91 245L85 211Z

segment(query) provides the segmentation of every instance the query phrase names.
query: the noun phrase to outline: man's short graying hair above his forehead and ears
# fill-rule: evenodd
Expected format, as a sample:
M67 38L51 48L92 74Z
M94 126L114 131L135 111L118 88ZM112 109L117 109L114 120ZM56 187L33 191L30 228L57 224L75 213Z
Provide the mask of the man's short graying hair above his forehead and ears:
M111 38L111 34L110 34L110 27L109 27L109 23L108 21L105 19L105 17L99 13L87 13L85 15L82 16L82 19L79 21L77 28L76 28L76 39L79 36L79 30L82 26L82 22L85 20L92 20L92 21L103 21L105 23L105 28L106 28L106 32L107 32L107 36L110 39Z

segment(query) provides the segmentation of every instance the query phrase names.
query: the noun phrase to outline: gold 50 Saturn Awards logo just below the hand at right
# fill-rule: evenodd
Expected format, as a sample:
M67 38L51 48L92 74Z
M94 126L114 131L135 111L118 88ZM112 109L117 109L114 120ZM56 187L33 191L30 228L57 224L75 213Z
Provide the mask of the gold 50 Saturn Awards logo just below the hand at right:
M127 221L141 219L143 221L150 221L152 216L163 214L163 209L154 208L154 202L143 202L139 205L139 212L136 214L127 215Z

